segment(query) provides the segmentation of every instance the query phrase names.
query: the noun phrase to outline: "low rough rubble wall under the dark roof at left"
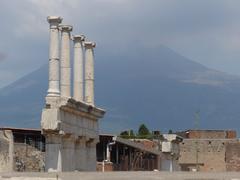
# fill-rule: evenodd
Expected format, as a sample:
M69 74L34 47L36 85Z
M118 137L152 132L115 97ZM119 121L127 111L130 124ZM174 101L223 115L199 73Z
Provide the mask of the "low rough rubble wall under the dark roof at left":
M44 152L24 143L14 143L14 171L44 171Z

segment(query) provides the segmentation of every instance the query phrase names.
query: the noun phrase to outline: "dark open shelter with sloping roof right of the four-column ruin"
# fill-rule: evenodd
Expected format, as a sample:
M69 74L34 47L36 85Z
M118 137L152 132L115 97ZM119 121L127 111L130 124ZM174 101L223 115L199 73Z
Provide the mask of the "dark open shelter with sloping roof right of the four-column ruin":
M98 171L161 170L161 152L150 140L138 141L113 135L100 135L97 144Z

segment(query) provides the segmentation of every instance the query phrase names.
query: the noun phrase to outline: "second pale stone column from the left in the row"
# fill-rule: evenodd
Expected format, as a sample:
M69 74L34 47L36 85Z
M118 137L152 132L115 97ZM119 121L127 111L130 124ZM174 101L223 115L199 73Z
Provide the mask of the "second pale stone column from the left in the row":
M71 97L70 32L72 26L61 25L61 96Z

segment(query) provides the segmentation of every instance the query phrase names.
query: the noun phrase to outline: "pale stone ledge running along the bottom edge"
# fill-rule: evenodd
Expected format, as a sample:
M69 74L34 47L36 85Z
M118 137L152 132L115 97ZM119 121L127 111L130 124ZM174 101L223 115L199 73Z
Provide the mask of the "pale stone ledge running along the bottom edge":
M240 173L219 172L69 172L1 173L0 180L240 180Z

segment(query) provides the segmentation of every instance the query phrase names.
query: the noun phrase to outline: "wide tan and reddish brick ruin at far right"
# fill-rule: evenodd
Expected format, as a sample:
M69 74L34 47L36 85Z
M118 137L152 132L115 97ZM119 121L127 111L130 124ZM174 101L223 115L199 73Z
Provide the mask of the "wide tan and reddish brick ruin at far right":
M182 171L240 171L239 140L232 130L188 130L180 133Z

